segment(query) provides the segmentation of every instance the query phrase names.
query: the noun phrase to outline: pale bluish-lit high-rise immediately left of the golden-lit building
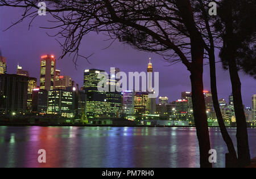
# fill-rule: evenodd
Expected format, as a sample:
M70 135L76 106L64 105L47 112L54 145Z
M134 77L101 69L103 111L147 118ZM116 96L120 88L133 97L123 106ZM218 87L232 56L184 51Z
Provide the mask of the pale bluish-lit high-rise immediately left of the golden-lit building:
M134 114L134 92L123 92L123 112L126 114Z

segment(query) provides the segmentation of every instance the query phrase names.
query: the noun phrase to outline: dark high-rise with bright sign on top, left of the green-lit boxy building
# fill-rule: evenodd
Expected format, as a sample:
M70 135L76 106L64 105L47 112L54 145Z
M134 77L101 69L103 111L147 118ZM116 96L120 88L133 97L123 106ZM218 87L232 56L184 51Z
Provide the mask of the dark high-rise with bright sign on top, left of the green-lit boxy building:
M32 112L46 114L47 105L48 92L46 90L40 90L40 88L34 88L32 91Z

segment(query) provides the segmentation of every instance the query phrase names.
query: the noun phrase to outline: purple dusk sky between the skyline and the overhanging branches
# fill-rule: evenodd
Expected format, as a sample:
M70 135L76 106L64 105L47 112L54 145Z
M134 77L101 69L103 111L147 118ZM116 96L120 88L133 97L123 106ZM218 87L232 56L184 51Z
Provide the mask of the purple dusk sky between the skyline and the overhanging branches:
M58 58L61 54L61 48L54 37L47 36L46 32L51 35L56 31L48 31L39 27L52 27L54 24L47 22L47 16L38 16L32 23L28 31L29 20L15 25L6 32L3 30L14 23L21 17L22 9L20 8L1 8L0 10L0 49L7 61L7 73L15 74L16 66L19 63L24 70L28 70L31 77L38 78L40 75L40 56L44 54L55 54ZM146 71L148 58L152 58L154 71L159 72L159 96L169 97L169 101L180 99L181 91L191 91L189 72L182 63L174 66L167 66L162 57L146 52L140 52L132 49L129 45L114 42L110 48L104 49L110 41L105 35L96 35L90 33L84 37L80 46L80 53L83 56L90 57L90 65L85 59L80 58L77 70L72 62L72 57L65 57L57 61L56 69L61 70L62 75L69 75L80 87L83 83L83 74L85 69L102 69L109 72L110 67L118 67L126 73L129 71ZM242 95L245 106L251 106L251 96L256 93L256 83L253 78L241 73ZM228 96L232 92L228 71L222 70L221 63L217 63L217 82L218 96L224 97L228 101ZM204 70L205 90L210 91L209 67L205 66Z

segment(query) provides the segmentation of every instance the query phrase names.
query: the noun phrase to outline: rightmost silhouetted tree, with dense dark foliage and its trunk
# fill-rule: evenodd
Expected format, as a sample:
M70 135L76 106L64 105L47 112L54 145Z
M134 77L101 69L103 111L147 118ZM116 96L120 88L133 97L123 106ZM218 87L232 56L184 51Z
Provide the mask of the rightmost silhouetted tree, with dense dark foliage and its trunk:
M250 150L238 71L243 69L255 77L256 5L253 0L222 0L219 6L215 27L223 44L220 57L224 68L229 69L232 82L237 121L238 164L245 167L250 164Z

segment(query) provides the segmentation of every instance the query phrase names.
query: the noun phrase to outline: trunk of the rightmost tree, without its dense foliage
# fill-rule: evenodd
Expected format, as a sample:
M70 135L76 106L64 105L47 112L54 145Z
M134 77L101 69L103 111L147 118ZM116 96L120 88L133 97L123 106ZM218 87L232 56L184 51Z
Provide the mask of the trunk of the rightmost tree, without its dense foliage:
M238 75L237 63L234 54L236 53L236 46L233 41L236 40L233 37L233 7L232 1L226 2L227 18L226 22L226 39L224 40L225 54L229 63L229 74L232 83L232 92L234 98L234 110L237 121L237 152L238 152L238 165L239 167L245 167L250 165L250 149L248 142L247 125L245 118L245 111L243 110L243 101L241 94L241 81Z

